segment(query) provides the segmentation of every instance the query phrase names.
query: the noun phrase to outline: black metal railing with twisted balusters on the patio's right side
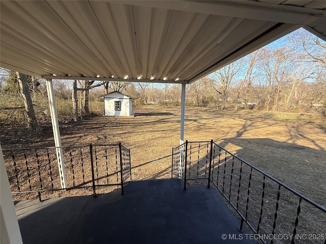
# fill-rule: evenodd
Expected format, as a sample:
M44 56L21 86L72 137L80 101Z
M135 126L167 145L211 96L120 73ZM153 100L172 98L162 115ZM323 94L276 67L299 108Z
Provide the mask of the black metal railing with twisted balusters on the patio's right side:
M211 141L172 149L172 177L205 180L263 243L326 243L326 209ZM207 181L206 181L207 180ZM206 184L206 183L205 183Z

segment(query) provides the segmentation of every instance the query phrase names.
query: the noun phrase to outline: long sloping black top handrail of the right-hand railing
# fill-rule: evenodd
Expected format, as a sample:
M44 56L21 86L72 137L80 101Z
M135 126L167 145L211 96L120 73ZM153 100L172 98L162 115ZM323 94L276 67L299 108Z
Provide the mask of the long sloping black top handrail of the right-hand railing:
M258 171L259 173L265 175L266 177L268 177L269 179L275 181L277 184L279 184L280 186L284 187L285 189L289 190L290 192L292 192L294 195L301 197L302 199L304 199L305 201L309 202L310 204L314 205L315 207L317 207L318 209L322 210L323 212L326 212L326 208L320 206L318 203L312 201L311 199L309 199L308 197L302 195L301 193L295 191L294 189L290 188L289 186L285 185L283 182L281 182L280 180L278 180L277 178L270 176L269 174L265 173L264 171L258 169L256 166L244 161L243 159L237 157L236 155L232 154L229 150L225 149L224 147L220 146L219 144L216 144L215 142L213 142L214 145L220 147L221 149L225 150L228 154L230 154L232 157L236 158L237 160L240 160L242 163L247 164L249 167L253 168L254 170Z

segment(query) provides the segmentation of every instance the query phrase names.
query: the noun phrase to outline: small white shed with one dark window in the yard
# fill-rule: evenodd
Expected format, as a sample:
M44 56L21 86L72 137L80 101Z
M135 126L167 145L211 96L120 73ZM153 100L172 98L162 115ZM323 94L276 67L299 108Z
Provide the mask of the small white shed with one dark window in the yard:
M112 92L101 96L104 98L105 116L133 116L132 100L134 98L120 92Z

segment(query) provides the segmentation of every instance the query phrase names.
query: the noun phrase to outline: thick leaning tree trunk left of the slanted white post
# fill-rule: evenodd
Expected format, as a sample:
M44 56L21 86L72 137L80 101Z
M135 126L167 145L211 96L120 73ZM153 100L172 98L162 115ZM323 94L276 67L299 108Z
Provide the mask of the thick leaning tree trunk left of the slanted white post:
M21 74L19 72L16 72L16 73L17 73L18 83L19 83L19 87L20 87L20 90L22 93L22 97L24 99L24 105L25 105L25 110L26 110L26 114L28 117L29 129L36 130L37 129L37 121L36 121L36 117L35 117L35 112L34 112L34 108L33 108L33 103L32 103L32 99L31 99L29 86L28 86L27 80L26 80L26 75Z

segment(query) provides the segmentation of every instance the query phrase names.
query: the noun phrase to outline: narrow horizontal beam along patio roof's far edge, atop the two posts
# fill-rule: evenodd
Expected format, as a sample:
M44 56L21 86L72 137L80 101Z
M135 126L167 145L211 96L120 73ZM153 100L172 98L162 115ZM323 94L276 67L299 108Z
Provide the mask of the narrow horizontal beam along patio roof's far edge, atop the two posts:
M188 84L186 80L143 80L143 79L120 79L120 78L102 78L102 77L86 77L86 76L58 76L43 75L44 79L56 80L97 80L97 81L123 81L123 82L145 82L145 83L172 83L172 84Z

